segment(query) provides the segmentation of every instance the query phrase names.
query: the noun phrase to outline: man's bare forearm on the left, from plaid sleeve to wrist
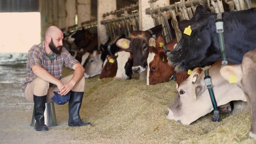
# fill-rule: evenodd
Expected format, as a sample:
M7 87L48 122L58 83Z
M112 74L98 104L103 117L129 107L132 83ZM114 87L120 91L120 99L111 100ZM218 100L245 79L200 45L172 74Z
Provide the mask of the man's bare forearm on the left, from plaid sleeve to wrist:
M31 69L37 77L46 82L53 83L54 85L58 85L60 83L60 80L56 79L40 65L34 65Z

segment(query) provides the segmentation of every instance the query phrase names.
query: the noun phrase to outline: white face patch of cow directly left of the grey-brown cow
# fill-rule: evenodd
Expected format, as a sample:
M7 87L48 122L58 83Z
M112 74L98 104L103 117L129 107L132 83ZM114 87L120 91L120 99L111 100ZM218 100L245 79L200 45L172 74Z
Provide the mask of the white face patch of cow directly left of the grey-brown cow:
M118 70L116 72L116 78L121 79L128 79L128 76L125 74L125 64L128 61L130 57L130 53L126 51L116 52L118 57L116 58L116 61L118 63Z

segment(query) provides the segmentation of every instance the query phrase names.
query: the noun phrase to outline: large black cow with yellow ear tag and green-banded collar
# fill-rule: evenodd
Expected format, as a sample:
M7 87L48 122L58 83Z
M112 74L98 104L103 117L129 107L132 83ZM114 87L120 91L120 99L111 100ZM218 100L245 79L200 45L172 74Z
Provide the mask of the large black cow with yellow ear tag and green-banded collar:
M179 65L176 69L180 71L203 67L222 59L216 15L207 6L199 4L191 20L179 22L182 38L168 56L170 65ZM222 13L228 61L240 64L244 53L256 48L256 21L252 19L256 19L256 9ZM192 30L190 36L183 33L189 27Z

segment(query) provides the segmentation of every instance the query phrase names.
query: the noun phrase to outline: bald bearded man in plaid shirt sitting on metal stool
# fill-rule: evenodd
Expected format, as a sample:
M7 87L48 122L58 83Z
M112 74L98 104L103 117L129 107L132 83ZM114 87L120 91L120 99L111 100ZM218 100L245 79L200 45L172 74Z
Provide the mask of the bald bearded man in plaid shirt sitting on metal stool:
M51 26L46 30L45 40L28 51L26 81L22 84L25 98L34 102L36 131L48 131L44 120L45 102L52 102L53 91L66 95L68 102L68 126L86 126L79 116L85 87L85 72L82 65L63 47L62 31ZM61 79L63 67L74 70L74 74Z

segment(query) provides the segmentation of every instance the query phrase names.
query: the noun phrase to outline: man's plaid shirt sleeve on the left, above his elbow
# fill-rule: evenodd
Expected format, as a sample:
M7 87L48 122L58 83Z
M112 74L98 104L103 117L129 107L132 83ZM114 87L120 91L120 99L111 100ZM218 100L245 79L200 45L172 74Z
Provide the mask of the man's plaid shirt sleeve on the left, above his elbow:
M30 65L30 68L32 68L34 65L42 66L39 55L40 55L39 50L37 50L37 49L30 49L29 50L29 52L28 52L28 60L29 60L28 64Z

